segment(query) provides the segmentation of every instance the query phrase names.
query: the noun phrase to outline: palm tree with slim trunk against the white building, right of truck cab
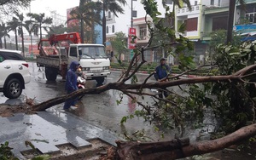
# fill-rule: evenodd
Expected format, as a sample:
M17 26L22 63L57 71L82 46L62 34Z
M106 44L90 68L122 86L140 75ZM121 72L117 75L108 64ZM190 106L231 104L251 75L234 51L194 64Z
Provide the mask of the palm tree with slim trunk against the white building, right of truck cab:
M81 1L81 0L80 0ZM112 12L115 16L118 17L117 14L124 14L124 9L120 6L120 4L126 4L125 0L102 0L102 43L105 45L106 43L106 11Z

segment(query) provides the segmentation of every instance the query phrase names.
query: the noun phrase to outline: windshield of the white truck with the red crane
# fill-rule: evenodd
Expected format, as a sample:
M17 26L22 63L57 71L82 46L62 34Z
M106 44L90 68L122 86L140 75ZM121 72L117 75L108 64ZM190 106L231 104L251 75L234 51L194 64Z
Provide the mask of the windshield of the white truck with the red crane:
M103 46L79 46L79 55L81 59L107 58Z

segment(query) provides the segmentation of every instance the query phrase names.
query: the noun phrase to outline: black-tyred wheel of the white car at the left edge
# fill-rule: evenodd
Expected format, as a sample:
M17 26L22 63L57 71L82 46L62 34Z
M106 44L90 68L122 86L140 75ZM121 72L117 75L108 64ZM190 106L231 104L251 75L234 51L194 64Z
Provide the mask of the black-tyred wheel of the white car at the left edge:
M9 82L4 86L3 94L9 99L16 99L22 93L22 84L19 79L9 79Z

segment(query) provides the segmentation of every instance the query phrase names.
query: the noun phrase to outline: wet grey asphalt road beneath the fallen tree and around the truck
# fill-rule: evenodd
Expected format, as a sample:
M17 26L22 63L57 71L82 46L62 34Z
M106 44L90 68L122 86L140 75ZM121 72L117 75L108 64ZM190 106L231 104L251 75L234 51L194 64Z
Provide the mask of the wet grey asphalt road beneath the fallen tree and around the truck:
M23 90L20 99L35 98L39 102L49 100L57 96L65 95L64 90L65 82L61 77L57 77L56 82L48 82L44 75L44 68L38 68L35 62L29 63L29 69L31 72L31 82L26 84L26 89ZM106 78L104 83L115 82L121 74L120 71L112 71L111 75ZM142 82L147 74L137 75L139 82ZM148 82L154 81L154 78L150 78ZM130 82L127 82L130 83ZM87 81L86 87L96 87L96 81ZM147 90L148 92L152 92ZM153 91L154 94L156 92ZM14 104L17 100L8 100L0 94L0 103ZM139 129L145 129L148 136L154 137L154 140L158 140L158 134L154 133L154 129L150 127L148 122L144 122L143 118L133 118L127 120L125 125L120 125L122 117L130 115L132 112L139 110L140 107L131 102L131 99L124 95L122 103L117 105L116 100L120 100L120 92L116 90L108 90L102 94L88 94L79 100L79 108L74 109L72 112L74 115L79 116L86 122L91 123L101 129L108 129L113 133L122 135L125 132L134 133ZM142 100L138 98L138 100ZM19 100L18 100L19 101ZM23 101L23 100L22 100ZM143 103L154 103L150 97L145 97ZM63 104L53 106L56 110L62 110ZM50 110L52 111L52 110ZM170 137L172 138L172 137Z

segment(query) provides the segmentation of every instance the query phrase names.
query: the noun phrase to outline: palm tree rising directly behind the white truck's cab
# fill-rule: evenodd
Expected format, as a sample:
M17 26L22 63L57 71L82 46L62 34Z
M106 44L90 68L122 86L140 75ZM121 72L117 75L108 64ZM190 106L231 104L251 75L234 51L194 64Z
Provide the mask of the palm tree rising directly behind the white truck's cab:
M94 31L94 23L102 25L101 20L101 8L99 3L90 2L88 0L80 0L79 7L73 9L70 14L72 18L70 20L80 21L80 35L82 42L84 42L84 23L85 26L89 26L91 31Z

